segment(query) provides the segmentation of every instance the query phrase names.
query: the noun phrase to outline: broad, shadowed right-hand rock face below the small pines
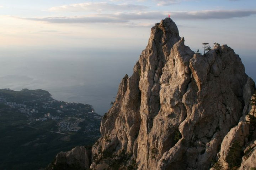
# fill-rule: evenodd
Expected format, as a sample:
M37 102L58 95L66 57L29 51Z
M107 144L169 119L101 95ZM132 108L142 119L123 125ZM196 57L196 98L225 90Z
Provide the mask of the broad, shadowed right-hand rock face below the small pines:
M248 113L254 82L232 49L224 45L205 56L195 54L189 67L191 83L182 96L187 117L179 125L182 138L162 155L158 169L208 169L224 136Z

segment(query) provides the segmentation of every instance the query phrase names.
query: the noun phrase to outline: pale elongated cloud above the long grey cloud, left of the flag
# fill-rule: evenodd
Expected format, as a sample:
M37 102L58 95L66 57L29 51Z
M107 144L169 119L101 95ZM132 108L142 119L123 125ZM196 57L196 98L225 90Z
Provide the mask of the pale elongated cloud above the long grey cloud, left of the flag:
M48 11L67 11L67 12L83 12L83 11L131 11L143 10L148 8L144 5L134 4L110 4L108 2L85 2L80 4L70 4L56 6Z

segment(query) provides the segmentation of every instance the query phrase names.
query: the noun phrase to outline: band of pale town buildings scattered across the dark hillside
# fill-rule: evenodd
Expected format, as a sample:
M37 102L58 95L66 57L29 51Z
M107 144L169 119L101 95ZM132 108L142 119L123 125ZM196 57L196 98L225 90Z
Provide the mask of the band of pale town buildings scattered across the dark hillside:
M39 102L41 100L42 99L38 98L38 102L24 101L21 104L10 102L7 98L0 96L0 103L5 104L10 108L17 109L20 113L26 114L27 117L30 118L30 123L28 123L30 125L33 124L34 121L46 121L51 119L57 120L57 128L59 132L77 132L81 129L79 126L81 122L90 120L91 122L86 124L85 131L91 132L98 130L98 124L95 123L95 120L100 122L101 116L94 113L93 108L91 108L90 105L82 106L81 103L57 100ZM52 111L55 113L53 114Z

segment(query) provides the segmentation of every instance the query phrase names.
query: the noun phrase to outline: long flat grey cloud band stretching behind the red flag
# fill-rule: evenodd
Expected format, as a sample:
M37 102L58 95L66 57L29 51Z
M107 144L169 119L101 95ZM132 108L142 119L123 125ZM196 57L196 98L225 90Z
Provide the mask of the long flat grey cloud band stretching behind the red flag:
M117 12L98 13L87 16L75 17L44 17L44 18L21 18L33 21L49 23L127 23L135 20L152 20L167 17L168 13L172 19L229 19L235 17L248 17L256 14L256 10L205 10L205 11L183 11L183 12Z

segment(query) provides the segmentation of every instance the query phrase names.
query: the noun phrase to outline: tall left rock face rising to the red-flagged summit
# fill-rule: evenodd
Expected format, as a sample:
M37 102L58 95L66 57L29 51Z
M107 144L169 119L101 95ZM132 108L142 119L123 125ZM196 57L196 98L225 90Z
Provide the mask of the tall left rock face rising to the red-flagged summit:
M157 23L151 29L148 46L134 67L133 75L126 75L118 90L116 102L103 118L102 137L92 151L133 153L133 157L147 165L149 132L160 109L160 77L171 47L181 38L171 19ZM141 139L141 140L140 140ZM138 157L137 157L138 155ZM95 163L92 168L96 167Z

